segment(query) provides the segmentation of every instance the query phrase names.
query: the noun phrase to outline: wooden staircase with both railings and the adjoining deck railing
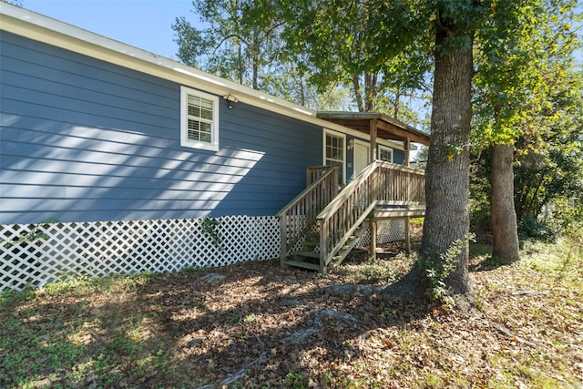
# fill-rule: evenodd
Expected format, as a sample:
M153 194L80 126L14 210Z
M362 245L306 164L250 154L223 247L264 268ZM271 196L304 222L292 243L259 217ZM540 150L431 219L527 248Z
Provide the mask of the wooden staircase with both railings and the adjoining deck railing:
M377 207L394 207L396 215L424 203L421 171L374 161L338 193L335 169L308 169L308 187L278 212L282 267L325 274L346 258L369 224L376 222ZM384 208L385 216L386 212Z

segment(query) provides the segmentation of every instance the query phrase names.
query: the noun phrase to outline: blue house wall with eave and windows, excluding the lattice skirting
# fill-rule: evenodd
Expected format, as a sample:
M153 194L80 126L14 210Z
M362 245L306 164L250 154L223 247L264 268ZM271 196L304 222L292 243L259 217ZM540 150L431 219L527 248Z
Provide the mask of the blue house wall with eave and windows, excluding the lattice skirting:
M273 215L305 188L306 168L331 162L326 131L342 142L343 181L351 146L368 141L22 8L2 4L1 28L0 224ZM380 147L404 162L402 143Z

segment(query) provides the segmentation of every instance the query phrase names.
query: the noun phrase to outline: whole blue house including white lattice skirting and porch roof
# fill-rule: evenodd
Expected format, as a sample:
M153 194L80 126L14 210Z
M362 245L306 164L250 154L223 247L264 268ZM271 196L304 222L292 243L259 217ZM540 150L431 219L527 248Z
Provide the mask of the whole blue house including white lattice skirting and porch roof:
M333 195L428 140L0 2L0 291L275 258L307 169L337 166Z

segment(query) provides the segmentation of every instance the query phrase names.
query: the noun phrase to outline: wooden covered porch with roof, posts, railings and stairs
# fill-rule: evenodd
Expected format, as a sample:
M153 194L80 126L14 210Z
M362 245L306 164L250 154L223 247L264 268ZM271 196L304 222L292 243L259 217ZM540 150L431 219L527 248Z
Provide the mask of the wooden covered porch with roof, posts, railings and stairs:
M337 167L310 168L307 188L279 213L281 266L326 273L343 261L370 229L371 255L376 255L377 223L404 220L409 251L409 220L424 216L424 172L409 167L413 142L429 145L429 135L375 113L320 112L318 117L352 128L370 138L370 164L339 193ZM378 159L377 141L402 142L404 166Z

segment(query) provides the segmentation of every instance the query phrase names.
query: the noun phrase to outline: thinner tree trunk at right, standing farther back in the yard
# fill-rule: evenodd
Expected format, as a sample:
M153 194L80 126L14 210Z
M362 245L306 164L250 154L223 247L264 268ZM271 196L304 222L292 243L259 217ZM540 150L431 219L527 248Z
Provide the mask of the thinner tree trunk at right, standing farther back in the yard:
M513 145L494 145L492 154L492 256L506 263L518 260L517 212L514 207Z

